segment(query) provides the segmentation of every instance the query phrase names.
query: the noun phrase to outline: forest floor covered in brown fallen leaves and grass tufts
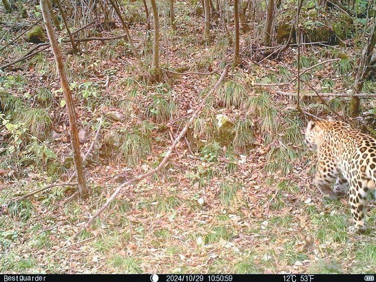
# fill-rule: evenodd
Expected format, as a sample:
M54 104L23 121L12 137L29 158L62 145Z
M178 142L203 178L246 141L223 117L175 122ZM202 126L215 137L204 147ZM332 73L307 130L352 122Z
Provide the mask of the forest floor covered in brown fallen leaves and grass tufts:
M168 30L167 38L161 40L161 60L168 60L171 70L212 72L220 67L220 72L221 62L231 63L233 48L226 38L218 35L207 43L201 38L202 22L179 24L185 28ZM132 30L142 28L135 25ZM120 29L111 32L120 33ZM140 34L132 33L137 46L143 45ZM230 69L223 88L208 102L191 137L178 144L167 167L126 186L76 241L73 235L121 179L146 172L161 161L190 110L219 74L164 72L163 83L155 83L147 76L147 68L131 57L124 40L90 42L81 45L85 51L75 56L64 45L79 125L90 137L83 152L100 117L104 118L101 137L86 165L93 194L87 200L62 204L73 191L55 187L11 203L8 212L0 215L0 272L374 272L374 200L368 207L367 233L348 232L352 218L346 200L330 201L313 185L315 156L303 143L306 119L295 110L295 99L276 91L295 92L296 84L254 86L293 79L296 49L278 60L255 64L250 58L262 51L251 50L250 39L251 35L242 35L243 66ZM146 62L150 48L148 38ZM306 46L302 68L347 51L352 52ZM348 59L341 60L342 64L315 68L303 79L317 90L343 93L349 84L343 74ZM54 64L52 54L46 52L2 74L4 89L32 108L48 111L58 137L43 143L55 155L48 161L29 150L26 157L32 162L27 166L2 167L0 205L46 184L64 182L73 172L68 118L61 107L64 102ZM52 98L51 104L43 106L35 97L45 88ZM309 90L304 85L302 89ZM328 104L340 111L346 101L336 98ZM333 117L319 101L302 103L316 115ZM218 137L218 114L235 124L236 136L230 144L221 144ZM175 122L171 125L171 121ZM106 138L111 139L108 136L120 143L112 143L116 149L103 148Z

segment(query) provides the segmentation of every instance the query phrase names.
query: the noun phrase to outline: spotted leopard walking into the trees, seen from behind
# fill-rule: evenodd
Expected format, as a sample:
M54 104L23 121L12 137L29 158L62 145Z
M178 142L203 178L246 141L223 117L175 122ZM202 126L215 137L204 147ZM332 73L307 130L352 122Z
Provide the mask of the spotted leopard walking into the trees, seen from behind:
M368 194L376 183L376 139L343 121L314 120L307 124L305 141L317 152L318 190L332 200L348 194L354 221L349 231L364 233Z

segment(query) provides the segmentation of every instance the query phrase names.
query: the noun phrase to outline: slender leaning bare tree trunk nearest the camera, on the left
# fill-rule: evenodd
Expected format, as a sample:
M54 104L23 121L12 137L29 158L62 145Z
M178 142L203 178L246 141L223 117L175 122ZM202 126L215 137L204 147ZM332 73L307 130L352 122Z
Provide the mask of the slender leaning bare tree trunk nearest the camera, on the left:
M51 49L54 53L58 74L60 76L60 83L63 89L64 99L67 106L69 127L71 134L71 144L73 149L74 162L76 165L78 188L80 196L84 197L88 194L86 186L85 174L82 164L82 158L80 153L80 142L78 139L77 123L76 123L76 111L74 109L72 93L68 85L67 74L64 69L63 57L61 55L60 47L56 39L55 31L52 26L50 11L48 8L47 0L40 0L40 6L42 10L43 19L46 25L46 31L50 40Z

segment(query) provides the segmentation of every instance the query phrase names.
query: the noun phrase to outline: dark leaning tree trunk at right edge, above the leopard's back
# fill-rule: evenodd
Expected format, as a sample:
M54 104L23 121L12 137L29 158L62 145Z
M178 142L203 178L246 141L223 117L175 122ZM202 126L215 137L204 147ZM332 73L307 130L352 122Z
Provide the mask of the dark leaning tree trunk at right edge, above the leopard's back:
M376 19L373 23L371 34L368 37L367 43L364 46L362 56L358 61L358 69L355 76L354 94L361 93L369 62L372 58L373 48L376 45ZM352 117L358 116L360 113L360 98L353 96L350 101L350 115Z

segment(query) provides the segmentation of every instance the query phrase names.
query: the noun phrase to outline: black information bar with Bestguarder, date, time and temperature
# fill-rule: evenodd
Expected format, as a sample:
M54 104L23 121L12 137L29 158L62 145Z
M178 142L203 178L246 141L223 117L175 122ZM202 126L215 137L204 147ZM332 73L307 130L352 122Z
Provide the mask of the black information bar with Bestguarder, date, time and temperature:
M0 274L0 282L371 282L376 274Z

